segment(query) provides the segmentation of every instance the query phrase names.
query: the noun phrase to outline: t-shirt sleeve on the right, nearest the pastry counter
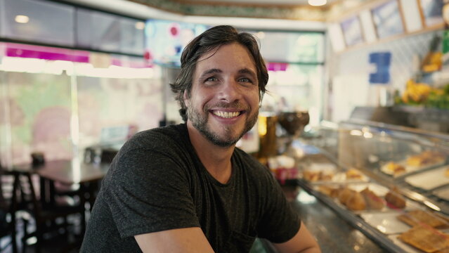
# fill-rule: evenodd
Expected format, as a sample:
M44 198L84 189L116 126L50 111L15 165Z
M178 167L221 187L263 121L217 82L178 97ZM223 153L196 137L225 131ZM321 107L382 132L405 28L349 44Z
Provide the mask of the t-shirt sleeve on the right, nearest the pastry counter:
M258 236L275 243L287 242L299 231L301 220L292 205L287 202L279 183L268 169L265 171L262 177L265 206L259 220Z

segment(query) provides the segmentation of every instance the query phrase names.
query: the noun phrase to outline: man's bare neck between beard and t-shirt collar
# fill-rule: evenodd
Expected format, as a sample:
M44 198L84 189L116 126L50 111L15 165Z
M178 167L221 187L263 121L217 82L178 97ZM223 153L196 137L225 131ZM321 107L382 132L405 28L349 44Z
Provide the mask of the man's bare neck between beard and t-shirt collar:
M227 183L232 174L230 157L233 155L235 145L226 148L214 145L195 129L190 121L187 122L187 129L190 142L209 174L220 183Z

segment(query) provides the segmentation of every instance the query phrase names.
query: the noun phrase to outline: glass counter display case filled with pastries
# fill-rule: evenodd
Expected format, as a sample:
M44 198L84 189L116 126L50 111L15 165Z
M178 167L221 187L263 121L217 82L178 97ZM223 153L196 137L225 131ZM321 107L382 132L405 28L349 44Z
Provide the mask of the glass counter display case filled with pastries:
M353 120L291 148L299 186L385 249L449 251L449 135Z

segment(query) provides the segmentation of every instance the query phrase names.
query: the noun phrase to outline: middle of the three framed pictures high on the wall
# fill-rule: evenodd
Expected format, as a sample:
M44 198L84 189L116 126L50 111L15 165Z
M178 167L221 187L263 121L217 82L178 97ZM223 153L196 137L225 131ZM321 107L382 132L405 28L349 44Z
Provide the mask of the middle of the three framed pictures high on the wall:
M404 32L398 1L387 1L384 4L372 8L371 13L379 39Z

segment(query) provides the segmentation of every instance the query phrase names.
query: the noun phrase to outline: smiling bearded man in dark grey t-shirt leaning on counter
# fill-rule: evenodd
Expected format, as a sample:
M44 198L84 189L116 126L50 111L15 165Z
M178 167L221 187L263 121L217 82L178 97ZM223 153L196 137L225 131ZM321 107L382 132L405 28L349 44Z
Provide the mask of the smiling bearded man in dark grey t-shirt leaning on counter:
M185 124L136 134L103 181L81 252L320 252L270 171L235 143L268 72L251 34L212 27L186 46L171 89Z

